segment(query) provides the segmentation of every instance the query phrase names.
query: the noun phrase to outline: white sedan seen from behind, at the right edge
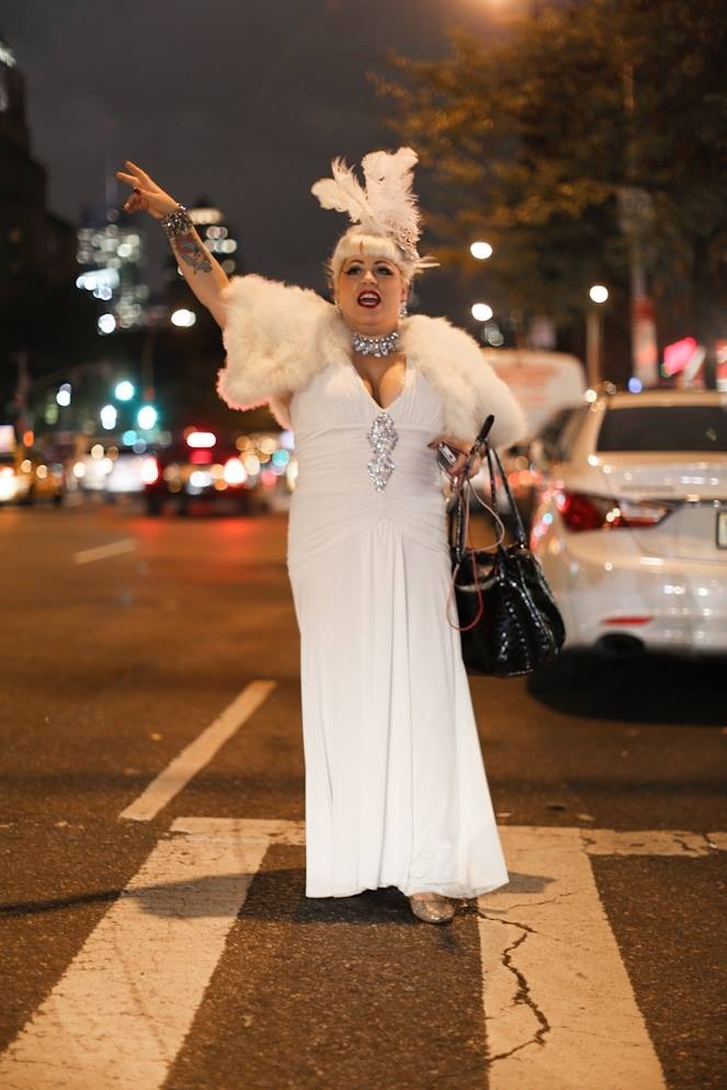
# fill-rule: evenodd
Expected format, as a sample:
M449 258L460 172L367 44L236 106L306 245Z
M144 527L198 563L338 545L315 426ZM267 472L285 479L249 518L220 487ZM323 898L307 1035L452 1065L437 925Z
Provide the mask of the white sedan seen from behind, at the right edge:
M727 651L727 395L618 393L577 410L531 547L567 647Z

